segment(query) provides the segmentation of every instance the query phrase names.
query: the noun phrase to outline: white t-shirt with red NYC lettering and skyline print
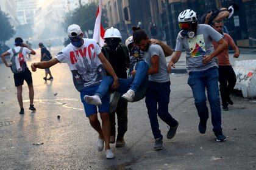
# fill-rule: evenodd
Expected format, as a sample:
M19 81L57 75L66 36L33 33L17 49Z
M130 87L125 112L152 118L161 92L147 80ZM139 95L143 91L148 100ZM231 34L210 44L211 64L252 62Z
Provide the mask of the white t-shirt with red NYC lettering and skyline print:
M99 84L105 75L105 69L99 60L101 47L94 39L84 38L81 47L71 43L61 50L55 58L67 63L73 75L74 86L78 91Z

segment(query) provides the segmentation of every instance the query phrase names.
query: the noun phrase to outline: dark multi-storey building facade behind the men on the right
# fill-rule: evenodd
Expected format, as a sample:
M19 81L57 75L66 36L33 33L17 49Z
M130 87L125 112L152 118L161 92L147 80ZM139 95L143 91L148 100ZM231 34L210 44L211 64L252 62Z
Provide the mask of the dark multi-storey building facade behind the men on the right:
M230 35L240 47L256 47L256 1L255 0L104 0L107 10L108 25L121 29L127 38L131 27L138 25L150 34L151 23L157 26L157 38L165 40L169 46L176 46L179 13L193 9L202 16L207 10L229 7L236 2L240 10L232 18L225 19L224 24ZM124 38L124 39L125 39Z

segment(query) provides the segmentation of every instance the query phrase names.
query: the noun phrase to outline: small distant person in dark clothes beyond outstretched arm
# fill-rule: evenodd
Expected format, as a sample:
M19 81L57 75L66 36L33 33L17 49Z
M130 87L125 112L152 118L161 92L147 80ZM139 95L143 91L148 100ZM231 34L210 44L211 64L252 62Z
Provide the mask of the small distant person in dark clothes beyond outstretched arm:
M44 47L43 43L39 42L38 46L41 49L41 60L40 61L49 61L49 60L51 60L52 59L52 55L49 52L49 50L46 49L46 47ZM43 77L43 80L45 80L45 81L46 80L52 80L53 77L52 77L51 70L49 68L44 69L44 70L45 70L45 77ZM48 74L50 75L49 78L47 78Z

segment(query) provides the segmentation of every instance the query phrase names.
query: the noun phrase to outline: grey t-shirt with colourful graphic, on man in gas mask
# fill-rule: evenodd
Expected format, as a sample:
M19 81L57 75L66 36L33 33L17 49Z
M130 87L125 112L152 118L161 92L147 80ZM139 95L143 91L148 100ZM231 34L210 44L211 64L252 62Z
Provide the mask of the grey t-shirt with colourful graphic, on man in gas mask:
M186 63L188 72L207 70L210 67L218 67L218 58L214 57L207 64L202 63L203 56L209 55L214 51L212 40L218 42L222 35L210 25L199 24L196 31L196 36L193 38L182 38L177 36L175 51L186 51Z

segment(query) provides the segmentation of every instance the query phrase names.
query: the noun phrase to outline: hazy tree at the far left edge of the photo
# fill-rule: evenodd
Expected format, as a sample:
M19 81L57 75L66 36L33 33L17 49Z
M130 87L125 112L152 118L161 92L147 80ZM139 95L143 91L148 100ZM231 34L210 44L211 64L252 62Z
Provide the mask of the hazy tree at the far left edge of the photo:
M0 41L5 42L15 35L13 25L10 24L9 16L0 10Z

